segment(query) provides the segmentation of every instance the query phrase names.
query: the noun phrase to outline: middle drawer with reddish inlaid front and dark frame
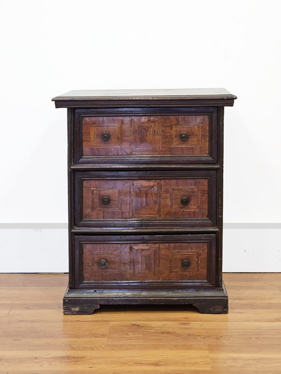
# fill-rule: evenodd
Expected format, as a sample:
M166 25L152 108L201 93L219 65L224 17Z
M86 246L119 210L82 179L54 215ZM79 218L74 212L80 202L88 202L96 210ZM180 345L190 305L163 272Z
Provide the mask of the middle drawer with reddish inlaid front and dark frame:
M75 194L78 227L216 224L216 171L76 172Z

